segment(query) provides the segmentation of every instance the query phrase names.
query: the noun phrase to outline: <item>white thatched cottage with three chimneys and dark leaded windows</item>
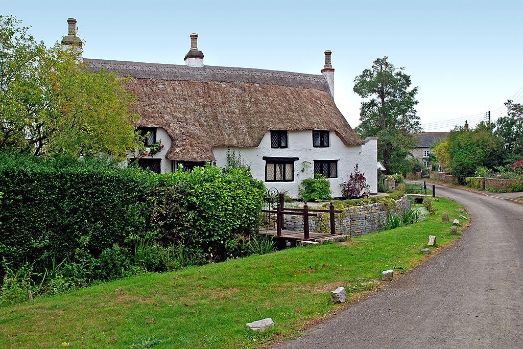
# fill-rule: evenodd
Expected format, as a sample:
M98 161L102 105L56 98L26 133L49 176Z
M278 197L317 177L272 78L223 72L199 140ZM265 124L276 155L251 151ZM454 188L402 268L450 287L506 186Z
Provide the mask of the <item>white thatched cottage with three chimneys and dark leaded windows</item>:
M62 43L78 44L74 19ZM331 182L334 196L356 164L377 192L377 139L354 132L334 103L331 51L321 75L203 64L198 35L191 34L185 65L84 58L90 69L130 75L138 98L136 125L160 153L140 159L157 172L206 162L225 166L228 152L241 154L268 188L298 196L299 183L314 173Z

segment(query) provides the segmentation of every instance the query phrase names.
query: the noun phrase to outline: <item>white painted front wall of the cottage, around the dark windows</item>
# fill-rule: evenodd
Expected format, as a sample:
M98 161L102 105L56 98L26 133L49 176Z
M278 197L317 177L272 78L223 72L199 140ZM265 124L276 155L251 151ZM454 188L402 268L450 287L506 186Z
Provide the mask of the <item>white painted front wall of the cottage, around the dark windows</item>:
M340 183L347 181L349 175L354 170L356 163L359 169L365 174L367 183L371 186L371 193L377 193L377 139L372 139L363 146L347 147L342 140L336 136L336 133L329 132L329 148L312 147L312 131L289 131L288 148L272 149L270 148L270 131L268 131L260 144L256 148L231 148L236 155L240 153L245 162L251 165L251 172L255 178L265 181L265 161L263 156L274 157L298 157L299 160L294 162L294 181L293 182L266 182L267 188L277 188L280 192L287 190L289 196L297 198L299 183L305 178L313 176L314 160L339 160L338 177L328 178L331 182L333 196L341 196ZM213 149L216 163L220 167L227 164L227 147L215 147ZM304 163L308 161L310 164Z

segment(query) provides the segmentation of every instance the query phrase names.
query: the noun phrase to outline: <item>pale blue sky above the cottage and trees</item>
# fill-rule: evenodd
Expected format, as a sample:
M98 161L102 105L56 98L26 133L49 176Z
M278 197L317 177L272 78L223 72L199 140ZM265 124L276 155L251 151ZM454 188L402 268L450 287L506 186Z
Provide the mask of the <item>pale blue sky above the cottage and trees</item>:
M359 124L354 78L384 55L419 92L426 131L473 126L523 103L520 1L18 1L3 4L48 46L76 18L84 57L184 64L189 34L204 64L320 74L331 50L335 100Z

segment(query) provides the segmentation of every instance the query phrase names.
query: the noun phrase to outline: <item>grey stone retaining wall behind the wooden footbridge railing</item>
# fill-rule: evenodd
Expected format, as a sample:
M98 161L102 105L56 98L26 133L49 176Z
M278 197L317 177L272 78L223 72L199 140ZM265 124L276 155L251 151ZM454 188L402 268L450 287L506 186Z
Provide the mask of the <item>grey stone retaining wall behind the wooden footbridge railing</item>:
M383 229L387 222L389 212L397 212L401 215L405 210L411 208L411 200L405 195L401 199L396 200L397 207L387 210L384 204L370 204L365 206L347 207L345 215L343 213L336 213L336 233L349 235L350 237L357 237L359 235L368 234L374 231ZM315 212L311 212L315 213ZM319 213L319 212L316 212ZM327 215L328 213L323 213ZM340 215L343 217L339 219ZM330 228L330 220L325 220L325 227ZM317 232L322 225L320 215L318 217L309 217L309 231ZM287 230L303 231L303 216L284 215L283 226Z

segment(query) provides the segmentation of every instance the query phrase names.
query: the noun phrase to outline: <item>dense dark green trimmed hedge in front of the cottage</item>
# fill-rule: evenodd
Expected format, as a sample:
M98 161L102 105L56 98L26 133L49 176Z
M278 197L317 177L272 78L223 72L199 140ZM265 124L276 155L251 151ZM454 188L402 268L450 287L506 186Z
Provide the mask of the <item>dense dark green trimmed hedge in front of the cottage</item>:
M226 242L257 227L265 187L216 166L157 175L107 159L0 153L0 192L0 272L52 259L108 279L136 265L144 245L225 258Z

